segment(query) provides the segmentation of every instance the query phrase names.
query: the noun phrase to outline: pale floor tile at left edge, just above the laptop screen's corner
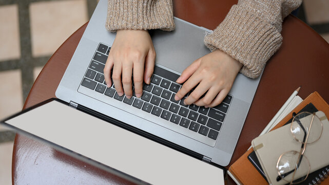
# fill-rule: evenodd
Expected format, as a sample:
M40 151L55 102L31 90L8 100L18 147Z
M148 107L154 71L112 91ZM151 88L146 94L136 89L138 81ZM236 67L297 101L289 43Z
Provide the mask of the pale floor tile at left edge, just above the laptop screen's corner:
M0 72L0 79L5 79L0 83L1 120L22 110L23 96L21 70Z

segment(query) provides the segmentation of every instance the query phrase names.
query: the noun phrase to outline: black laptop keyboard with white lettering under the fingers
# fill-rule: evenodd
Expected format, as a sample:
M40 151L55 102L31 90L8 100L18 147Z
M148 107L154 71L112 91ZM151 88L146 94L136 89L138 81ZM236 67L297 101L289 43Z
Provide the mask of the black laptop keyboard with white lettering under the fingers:
M103 70L109 51L110 47L102 43L99 44L93 60L82 80L82 86L137 109L141 109L149 113L150 117L158 117L170 124L179 125L179 127L185 128L185 130L180 128L179 131L176 132L191 137L192 139L199 140L206 144L209 144L207 143L207 139L202 137L207 137L212 141L217 140L229 104L233 98L231 95L227 95L221 104L212 108L185 105L184 99L191 92L185 95L182 100L176 101L174 99L176 93L182 87L182 85L176 83L179 75L156 65L154 67L151 83L149 85L143 85L143 94L141 98L137 98L135 94L133 94L130 99L126 98L125 95L120 97L114 88L113 81L110 88L107 88L104 81ZM160 123L157 122L157 124ZM175 127L173 128L175 129ZM199 136L189 134L189 132L198 133Z

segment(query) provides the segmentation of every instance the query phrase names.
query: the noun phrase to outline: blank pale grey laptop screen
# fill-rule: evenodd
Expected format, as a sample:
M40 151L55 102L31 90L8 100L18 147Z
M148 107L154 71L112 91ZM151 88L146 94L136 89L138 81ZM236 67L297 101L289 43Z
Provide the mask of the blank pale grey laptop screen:
M137 183L140 179L151 184L224 184L219 168L57 101L6 123L47 140L57 150L62 146L103 163L110 168L60 150Z

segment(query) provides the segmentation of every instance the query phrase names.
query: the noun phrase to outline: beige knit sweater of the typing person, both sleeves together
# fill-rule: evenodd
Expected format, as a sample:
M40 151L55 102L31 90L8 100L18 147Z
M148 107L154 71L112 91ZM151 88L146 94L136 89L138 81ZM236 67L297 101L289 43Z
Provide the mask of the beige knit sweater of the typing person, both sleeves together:
M243 75L257 78L268 59L282 44L280 32L283 18L299 7L301 2L302 0L239 0L214 32L205 37L204 43L209 49L221 49L241 62L243 67L240 72ZM108 0L106 28L110 31L173 30L175 23L172 2Z

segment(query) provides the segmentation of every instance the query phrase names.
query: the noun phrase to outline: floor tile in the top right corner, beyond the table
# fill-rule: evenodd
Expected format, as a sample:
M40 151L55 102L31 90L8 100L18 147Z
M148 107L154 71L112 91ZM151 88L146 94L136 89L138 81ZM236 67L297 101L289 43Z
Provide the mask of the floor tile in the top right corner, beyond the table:
M304 0L303 4L308 24L329 23L328 0Z

